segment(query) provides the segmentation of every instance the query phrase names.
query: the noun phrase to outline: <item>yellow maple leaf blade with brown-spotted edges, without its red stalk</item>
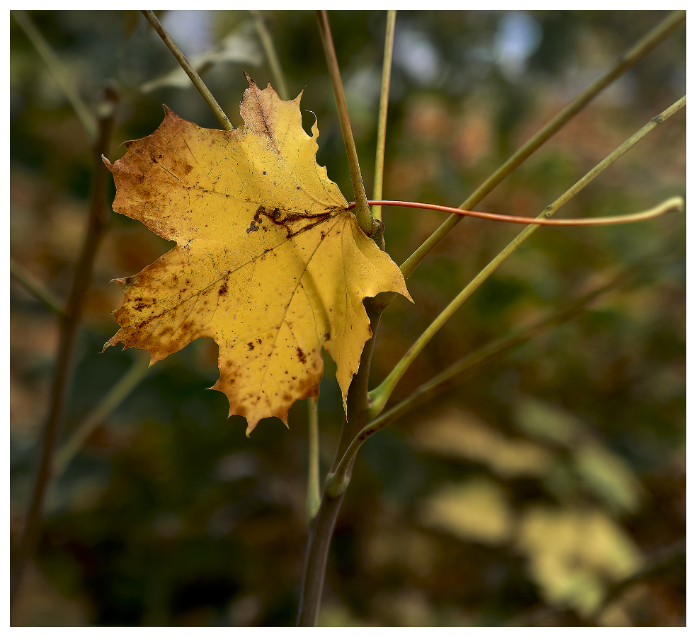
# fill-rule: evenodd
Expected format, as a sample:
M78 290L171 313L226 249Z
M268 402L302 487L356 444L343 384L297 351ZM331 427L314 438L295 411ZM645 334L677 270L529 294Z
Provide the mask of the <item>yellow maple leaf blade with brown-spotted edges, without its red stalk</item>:
M322 345L336 361L343 405L370 338L363 299L411 298L387 253L358 227L326 168L316 163L319 129L302 129L300 93L283 101L249 79L244 125L210 130L165 107L148 137L126 142L114 175L113 209L176 241L132 277L116 279L114 312L123 343L150 365L209 336L219 347L212 389L229 415L261 418L319 396Z

